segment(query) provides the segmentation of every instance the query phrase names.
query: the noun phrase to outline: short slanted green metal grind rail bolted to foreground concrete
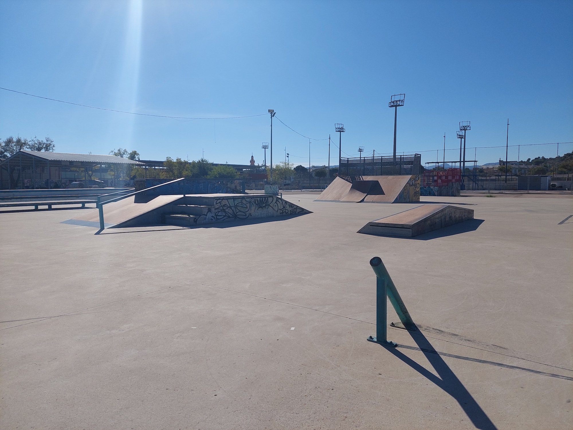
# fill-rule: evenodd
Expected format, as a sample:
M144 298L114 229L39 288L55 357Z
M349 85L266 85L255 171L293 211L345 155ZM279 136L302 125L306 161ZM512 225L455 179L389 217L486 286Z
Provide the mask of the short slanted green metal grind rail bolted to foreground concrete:
M374 257L370 260L370 265L376 274L376 337L369 336L366 340L368 342L380 343L384 346L398 346L397 343L388 341L386 339L386 297L390 299L390 303L398 314L398 318L408 330L416 330L414 321L412 320L406 305L396 290L392 278L388 274L384 263L380 257Z

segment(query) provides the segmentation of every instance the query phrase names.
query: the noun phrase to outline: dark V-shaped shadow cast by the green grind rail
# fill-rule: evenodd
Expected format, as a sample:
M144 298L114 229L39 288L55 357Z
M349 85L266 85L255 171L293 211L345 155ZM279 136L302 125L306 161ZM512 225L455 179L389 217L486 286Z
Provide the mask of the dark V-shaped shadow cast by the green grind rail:
M440 357L437 351L431 346L431 343L426 339L419 329L416 329L410 335L414 342L418 345L419 349L425 355L427 361L430 362L434 370L438 373L439 377L435 376L429 370L425 369L423 366L419 365L407 355L401 353L394 347L387 347L386 350L393 354L395 357L401 359L407 365L409 365L416 372L425 376L439 388L444 390L446 393L450 394L461 406L465 414L472 421L476 428L482 430L497 430L497 427L492 423L492 420L486 415L481 406L473 398L472 394L468 392L464 384L458 379L456 374L449 368L444 359Z

